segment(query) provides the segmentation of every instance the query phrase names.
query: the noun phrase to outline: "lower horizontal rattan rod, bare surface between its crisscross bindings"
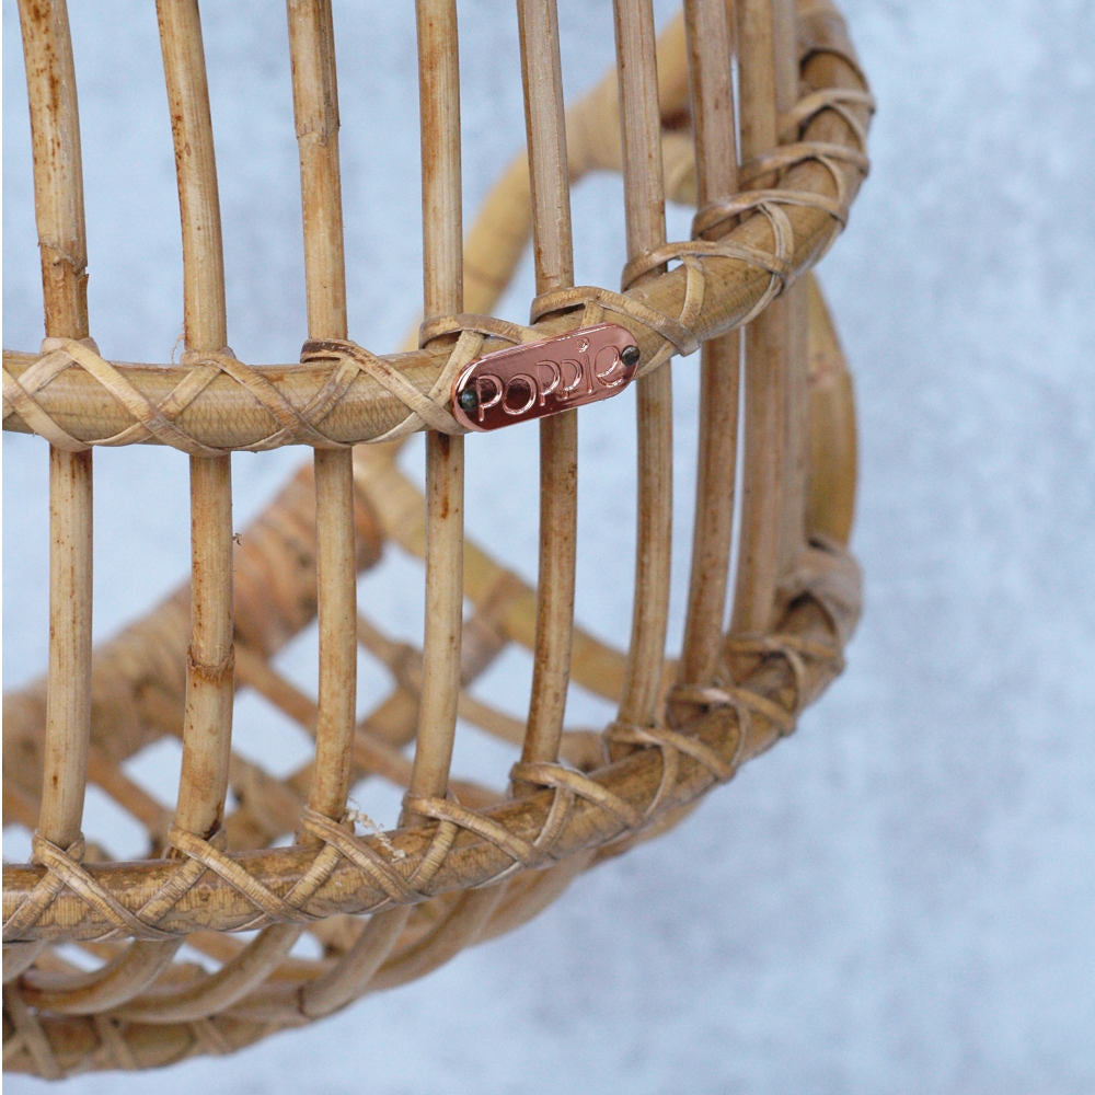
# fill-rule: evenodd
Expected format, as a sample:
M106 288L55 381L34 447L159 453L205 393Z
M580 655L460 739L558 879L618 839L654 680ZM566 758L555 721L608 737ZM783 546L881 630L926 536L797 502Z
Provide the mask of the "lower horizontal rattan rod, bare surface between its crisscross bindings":
M779 623L779 633L791 636L797 643L832 647L834 655L839 648L833 646L833 624L839 626L841 642L846 638L858 613L858 575L848 560L839 553L831 556L829 564L831 574L825 578L825 586L830 590L839 589L837 599L829 599L823 608L811 598L800 598L793 602L786 616ZM829 572L826 572L829 574ZM772 711L793 710L796 702L809 703L832 680L839 670L835 656L822 659L808 659L805 664L805 676L802 680L802 694L796 696L795 681L792 670L784 658L766 658L742 681L741 688L750 695L758 696L761 704L771 701L775 704ZM725 759L737 757L739 763L751 759L759 752L770 748L781 733L781 727L769 714L766 705L757 706L749 719L748 733L738 744L737 735L728 730L727 719L733 723L734 715L728 708L712 711L684 729L694 735L701 744L714 748ZM642 750L618 761L610 769L603 770L602 777L611 792L629 803L635 809L644 810L654 796L658 794L661 784L662 761L658 750ZM712 773L692 757L682 754L679 760L678 781L673 787L661 796L661 809L672 812L685 803L694 799L711 787L714 781ZM546 819L553 794L541 792L531 797L500 804L485 811L485 817L497 821L518 839L534 840ZM652 821L656 820L650 818ZM585 798L576 799L566 823L562 827L555 843L553 854L560 858L580 849L590 848L602 842L610 833L616 833L620 820L608 816L601 807ZM410 872L422 862L422 856L430 848L436 834L436 827L429 826L417 830L405 830L393 834L391 840L406 860L401 872ZM378 855L384 852L374 844ZM240 864L252 877L275 892L285 892L292 880L299 878L311 864L313 853L302 849L278 848L264 852L245 852L232 855L233 862ZM500 851L492 842L463 834L456 841L445 862L433 876L428 892L443 892L452 888L475 885L492 877L499 869L511 863L510 856ZM157 892L176 873L185 869L184 865L171 861L147 862L141 864L89 864L89 873L93 878L102 875L104 884L111 892L127 908L138 908L149 894ZM13 937L56 937L64 934L67 938L96 938L112 930L112 925L103 912L84 902L73 894L59 895L48 908L41 910L35 919L24 923L19 917L19 910L34 887L41 881L44 868L34 866L12 866L4 868L4 917L9 922L9 931ZM384 890L372 879L348 863L341 863L320 887L309 910L321 911L324 915L336 912L367 911L387 900ZM160 921L160 927L166 931L191 931L195 927L206 927L221 931L239 929L252 921L255 908L249 899L223 880L206 872L185 896L183 896Z

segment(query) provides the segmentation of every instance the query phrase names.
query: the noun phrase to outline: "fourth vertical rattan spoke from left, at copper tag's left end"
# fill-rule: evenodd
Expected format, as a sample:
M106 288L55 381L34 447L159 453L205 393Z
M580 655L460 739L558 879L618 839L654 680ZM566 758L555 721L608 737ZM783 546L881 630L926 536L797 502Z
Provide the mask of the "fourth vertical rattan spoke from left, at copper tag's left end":
M463 309L460 66L456 0L417 0L423 314ZM426 435L422 694L408 796L443 796L457 734L463 625L463 438ZM410 809L403 822L416 819Z

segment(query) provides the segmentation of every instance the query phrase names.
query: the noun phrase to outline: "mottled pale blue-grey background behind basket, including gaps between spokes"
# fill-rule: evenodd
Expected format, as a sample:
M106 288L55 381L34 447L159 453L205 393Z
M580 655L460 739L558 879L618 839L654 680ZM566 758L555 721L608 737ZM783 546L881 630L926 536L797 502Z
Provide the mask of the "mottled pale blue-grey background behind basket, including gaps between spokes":
M206 7L231 342L249 360L288 360L303 301L281 11ZM336 27L347 250L361 256L351 333L387 348L420 291L417 131L411 5L376 7L366 18L338 5ZM562 7L579 91L611 49L608 5ZM521 107L509 5L462 8L474 208L519 142ZM92 331L107 355L162 360L181 292L154 16L132 2L72 9ZM873 175L823 265L862 426L867 600L844 678L673 834L580 879L521 931L231 1059L69 1090L1095 1090L1095 16L1080 0L844 9L879 103ZM32 348L41 302L13 3L4 60L3 342ZM578 278L611 285L618 184L595 181L575 205ZM685 223L675 215L671 231ZM530 296L526 272L508 314L521 319ZM685 452L694 373L694 358L675 366ZM625 568L606 581L597 564L630 539L633 442L626 413L606 406L581 419L579 613L619 634L631 579ZM469 520L531 574L534 507L491 502L500 461L532 488L534 457L517 440L471 458ZM5 436L4 456L12 687L45 662L45 453ZM300 456L235 459L241 523ZM96 460L106 635L185 569L185 458ZM683 517L684 479L678 495ZM401 576L410 567L393 558L362 596L413 634L420 595L393 595ZM287 671L307 679L310 656L306 637ZM527 670L512 661L484 687L519 696ZM250 715L254 748L288 764L299 746L268 712ZM603 708L579 695L570 717L595 723ZM170 787L174 759L160 760ZM104 823L124 844L124 825Z

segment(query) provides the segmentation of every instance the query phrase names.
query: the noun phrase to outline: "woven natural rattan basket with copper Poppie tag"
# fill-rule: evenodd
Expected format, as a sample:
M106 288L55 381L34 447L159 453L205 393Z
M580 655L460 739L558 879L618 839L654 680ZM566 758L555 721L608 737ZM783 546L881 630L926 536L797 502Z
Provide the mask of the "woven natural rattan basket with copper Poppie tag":
M387 355L347 325L330 2L289 0L308 331L299 362L263 366L228 349L197 5L157 11L185 345L131 364L91 338L65 4L20 4L46 337L4 350L3 416L48 448L50 608L47 676L4 699L4 825L33 834L4 867L4 1067L43 1076L234 1049L525 922L787 735L860 604L851 384L808 269L865 175L871 100L827 0L691 0L657 37L649 0L616 0L616 64L567 110L555 4L518 0L528 154L466 240L456 0L419 0L424 298L407 314L425 320ZM623 209L603 211L626 224L620 286L574 285L570 186L593 171L623 176ZM695 210L691 239L667 241L667 200ZM530 238L531 319L495 318ZM701 385L670 656L675 369ZM606 580L633 583L634 607L610 645L574 622L577 406L631 380L635 568ZM499 424L540 439L534 586L464 535L464 448ZM395 459L419 430L424 491ZM191 580L93 648L93 452L142 443L189 456ZM231 453L289 445L313 461L237 530ZM385 548L423 562L420 649L357 604ZM316 616L309 694L275 655ZM515 645L533 659L520 718L470 691ZM364 718L362 652L390 678ZM611 701L603 731L566 723L570 682ZM299 725L309 763L276 777L233 748L244 690ZM502 771L450 776L465 726L511 750ZM181 742L174 800L126 764L162 738ZM405 792L387 831L367 814L380 783ZM143 827L143 857L84 831L89 785Z

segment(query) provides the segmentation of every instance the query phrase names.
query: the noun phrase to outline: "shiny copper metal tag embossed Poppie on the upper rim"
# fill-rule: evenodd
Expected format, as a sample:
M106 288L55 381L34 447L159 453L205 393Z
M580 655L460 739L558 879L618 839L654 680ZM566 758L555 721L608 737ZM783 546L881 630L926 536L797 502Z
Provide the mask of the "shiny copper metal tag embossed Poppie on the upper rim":
M622 392L638 347L626 327L599 323L472 361L452 385L452 414L469 429L498 429Z

